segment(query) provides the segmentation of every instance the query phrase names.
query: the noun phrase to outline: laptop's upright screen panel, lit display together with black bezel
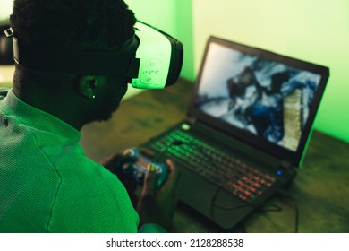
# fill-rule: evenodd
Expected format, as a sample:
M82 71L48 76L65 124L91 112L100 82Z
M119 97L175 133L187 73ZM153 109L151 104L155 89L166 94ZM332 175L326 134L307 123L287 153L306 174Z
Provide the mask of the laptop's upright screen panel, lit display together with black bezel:
M211 37L193 109L247 143L299 158L327 79L326 67Z

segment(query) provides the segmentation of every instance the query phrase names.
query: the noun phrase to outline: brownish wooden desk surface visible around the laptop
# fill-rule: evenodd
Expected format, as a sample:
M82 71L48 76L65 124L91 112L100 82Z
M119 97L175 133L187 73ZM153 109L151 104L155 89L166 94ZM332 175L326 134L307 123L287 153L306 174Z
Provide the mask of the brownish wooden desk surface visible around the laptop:
M81 145L92 160L132 146L166 131L185 117L192 82L179 80L161 91L143 91L123 100L110 121L86 125ZM315 131L303 167L287 192L268 203L280 212L253 212L233 232L293 232L299 210L298 232L349 232L349 144ZM217 226L180 203L174 232L220 232Z

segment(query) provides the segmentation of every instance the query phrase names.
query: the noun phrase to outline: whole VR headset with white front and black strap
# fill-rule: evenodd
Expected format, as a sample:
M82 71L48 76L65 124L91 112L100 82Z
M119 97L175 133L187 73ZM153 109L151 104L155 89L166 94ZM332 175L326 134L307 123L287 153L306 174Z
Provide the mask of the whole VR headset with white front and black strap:
M121 48L111 51L73 51L25 48L12 28L13 59L26 68L55 73L118 75L132 87L162 89L177 81L183 64L182 43L161 30L136 22L135 34Z

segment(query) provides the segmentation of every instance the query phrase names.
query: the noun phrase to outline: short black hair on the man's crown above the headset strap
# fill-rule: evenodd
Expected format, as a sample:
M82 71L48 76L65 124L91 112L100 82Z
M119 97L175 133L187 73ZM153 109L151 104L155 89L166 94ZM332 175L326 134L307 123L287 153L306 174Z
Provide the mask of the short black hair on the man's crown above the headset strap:
M115 49L136 22L123 0L14 0L15 36L26 47Z

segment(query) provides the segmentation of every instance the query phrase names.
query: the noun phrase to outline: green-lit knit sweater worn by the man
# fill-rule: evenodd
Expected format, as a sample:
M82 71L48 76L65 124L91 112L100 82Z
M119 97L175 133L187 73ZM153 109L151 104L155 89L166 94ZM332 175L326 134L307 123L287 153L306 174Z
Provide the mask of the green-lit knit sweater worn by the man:
M0 98L0 232L136 232L122 183L84 156L81 134L19 100Z

